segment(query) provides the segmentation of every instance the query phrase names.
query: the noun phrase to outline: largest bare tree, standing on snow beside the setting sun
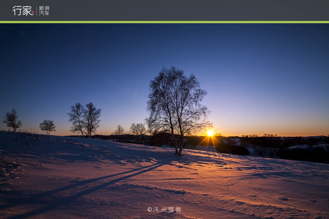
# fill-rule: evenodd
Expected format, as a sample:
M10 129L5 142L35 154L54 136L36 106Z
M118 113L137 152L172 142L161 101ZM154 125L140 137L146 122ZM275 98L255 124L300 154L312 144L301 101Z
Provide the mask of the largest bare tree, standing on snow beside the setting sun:
M184 135L212 126L206 120L210 111L200 104L206 94L194 75L186 77L182 70L164 67L150 83L147 108L150 116L146 119L149 130L171 131L175 153L181 155ZM174 134L180 136L179 151Z

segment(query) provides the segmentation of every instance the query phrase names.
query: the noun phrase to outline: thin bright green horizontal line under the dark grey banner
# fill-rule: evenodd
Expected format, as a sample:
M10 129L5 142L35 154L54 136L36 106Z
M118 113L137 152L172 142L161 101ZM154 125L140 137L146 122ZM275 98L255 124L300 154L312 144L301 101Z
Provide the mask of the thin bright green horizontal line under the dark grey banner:
M0 21L0 23L329 23L329 21Z

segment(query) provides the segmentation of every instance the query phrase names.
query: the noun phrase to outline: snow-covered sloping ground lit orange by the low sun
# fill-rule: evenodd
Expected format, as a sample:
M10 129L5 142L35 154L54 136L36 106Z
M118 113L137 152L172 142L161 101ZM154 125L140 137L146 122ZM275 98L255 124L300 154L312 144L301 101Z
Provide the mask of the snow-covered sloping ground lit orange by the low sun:
M329 218L328 164L60 136L32 143L0 132L0 218Z

